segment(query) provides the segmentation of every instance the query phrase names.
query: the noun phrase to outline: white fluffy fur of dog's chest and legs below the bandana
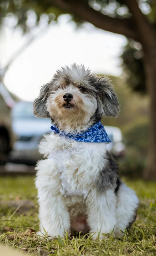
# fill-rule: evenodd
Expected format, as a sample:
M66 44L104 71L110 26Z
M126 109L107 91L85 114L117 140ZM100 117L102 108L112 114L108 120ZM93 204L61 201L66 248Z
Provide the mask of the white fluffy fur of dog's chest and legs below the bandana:
M110 233L124 230L138 206L135 193L122 184L117 196L112 189L98 194L96 177L105 166L106 143L85 143L51 133L40 144L48 159L38 162L39 235L63 236L70 232L71 219L86 211L90 232Z

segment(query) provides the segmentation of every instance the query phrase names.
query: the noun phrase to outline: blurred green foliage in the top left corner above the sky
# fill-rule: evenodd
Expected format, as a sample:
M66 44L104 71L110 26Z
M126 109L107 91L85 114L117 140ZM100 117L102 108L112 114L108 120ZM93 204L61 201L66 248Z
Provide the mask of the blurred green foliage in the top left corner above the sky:
M2 0L0 4L0 24L6 25L9 19L14 19L14 27L20 27L23 32L29 32L31 28L36 27L41 19L47 24L53 20L57 20L58 16L66 11L53 6L48 1L29 1L29 0Z

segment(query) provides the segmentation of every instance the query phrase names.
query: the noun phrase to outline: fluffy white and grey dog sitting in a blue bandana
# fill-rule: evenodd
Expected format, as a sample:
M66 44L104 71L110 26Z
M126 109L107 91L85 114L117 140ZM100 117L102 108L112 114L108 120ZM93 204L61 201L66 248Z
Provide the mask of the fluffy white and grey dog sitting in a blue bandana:
M96 240L113 231L122 236L135 221L139 201L120 182L106 149L110 139L101 117L119 113L110 80L82 64L62 67L41 87L33 112L52 121L51 134L39 145L45 159L36 166L38 235L51 239L81 231Z

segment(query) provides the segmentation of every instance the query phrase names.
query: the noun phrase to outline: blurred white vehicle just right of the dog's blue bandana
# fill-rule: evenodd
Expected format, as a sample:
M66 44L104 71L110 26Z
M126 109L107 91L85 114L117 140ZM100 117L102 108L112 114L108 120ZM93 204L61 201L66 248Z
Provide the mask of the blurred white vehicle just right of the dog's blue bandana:
M111 143L107 144L107 150L112 153L115 158L125 156L125 144L123 142L122 131L114 126L105 126L105 130L111 140Z

